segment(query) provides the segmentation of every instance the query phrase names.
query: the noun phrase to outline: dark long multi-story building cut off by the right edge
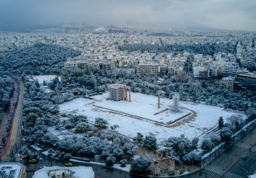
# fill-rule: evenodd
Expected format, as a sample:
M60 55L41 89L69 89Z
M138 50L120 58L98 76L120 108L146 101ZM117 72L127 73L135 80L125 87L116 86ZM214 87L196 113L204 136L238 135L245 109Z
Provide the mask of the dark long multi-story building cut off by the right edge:
M234 90L256 93L256 74L237 74L234 80Z

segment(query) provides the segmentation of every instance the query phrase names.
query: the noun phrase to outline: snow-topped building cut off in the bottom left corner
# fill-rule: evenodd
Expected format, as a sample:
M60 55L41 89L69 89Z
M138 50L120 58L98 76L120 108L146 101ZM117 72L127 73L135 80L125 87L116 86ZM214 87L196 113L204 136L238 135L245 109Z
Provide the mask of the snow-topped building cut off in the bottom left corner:
M26 178L26 167L20 163L0 163L0 177Z

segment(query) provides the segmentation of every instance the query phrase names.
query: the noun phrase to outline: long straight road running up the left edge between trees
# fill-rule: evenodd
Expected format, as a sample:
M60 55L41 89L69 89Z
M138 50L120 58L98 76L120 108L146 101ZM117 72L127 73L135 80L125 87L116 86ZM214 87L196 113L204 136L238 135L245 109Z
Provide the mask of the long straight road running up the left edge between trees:
M22 109L22 102L24 97L24 83L20 80L19 81L20 93L19 93L19 100L18 104L16 105L14 117L12 119L11 124L11 131L7 138L6 145L1 150L1 159L4 161L11 161L11 154L17 148L17 145L20 145L20 132L21 132L21 109Z

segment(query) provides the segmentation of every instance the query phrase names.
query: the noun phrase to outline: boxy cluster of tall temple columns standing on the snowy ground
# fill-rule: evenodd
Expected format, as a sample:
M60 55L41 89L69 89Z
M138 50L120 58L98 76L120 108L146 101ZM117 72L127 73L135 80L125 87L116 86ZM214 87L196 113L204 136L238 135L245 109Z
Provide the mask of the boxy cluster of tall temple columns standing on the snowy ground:
M128 87L122 84L112 84L109 86L109 99L120 101L120 100L131 100L131 92L129 91L128 99Z

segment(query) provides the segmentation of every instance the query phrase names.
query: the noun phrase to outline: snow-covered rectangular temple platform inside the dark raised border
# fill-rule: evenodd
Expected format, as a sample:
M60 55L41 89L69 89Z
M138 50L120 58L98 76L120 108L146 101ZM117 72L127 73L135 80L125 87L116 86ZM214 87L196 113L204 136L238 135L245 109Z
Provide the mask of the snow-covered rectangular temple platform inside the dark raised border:
M97 101L95 106L128 113L132 116L143 117L152 121L167 123L170 121L175 121L176 119L190 113L189 110L185 109L180 109L180 112L172 112L170 109L170 100L161 99L161 105L160 108L158 108L158 98L153 95L141 95L139 93L132 93L131 102L119 101L118 103L113 100L106 100L107 97L107 93L95 96L94 100ZM167 108L169 108L169 110L162 112ZM157 112L160 113L156 114Z

